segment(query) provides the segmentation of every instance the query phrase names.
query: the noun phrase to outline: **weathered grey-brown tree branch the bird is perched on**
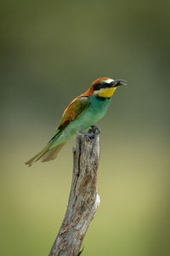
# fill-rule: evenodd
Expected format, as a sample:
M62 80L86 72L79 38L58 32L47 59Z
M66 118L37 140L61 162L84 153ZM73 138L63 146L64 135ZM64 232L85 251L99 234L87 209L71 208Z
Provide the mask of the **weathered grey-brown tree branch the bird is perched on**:
M48 256L80 255L82 240L99 207L99 129L93 128L84 136L78 135L73 155L74 166L68 207Z

